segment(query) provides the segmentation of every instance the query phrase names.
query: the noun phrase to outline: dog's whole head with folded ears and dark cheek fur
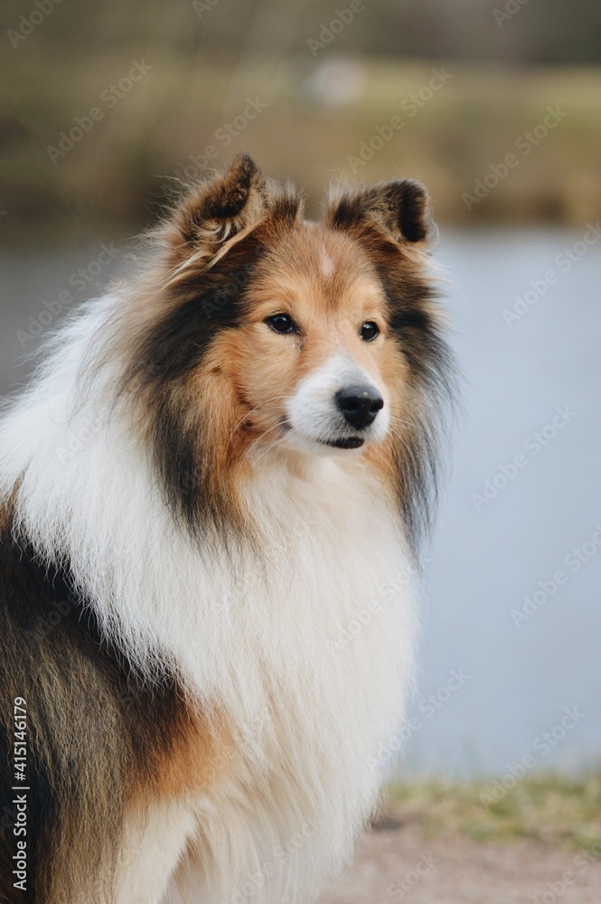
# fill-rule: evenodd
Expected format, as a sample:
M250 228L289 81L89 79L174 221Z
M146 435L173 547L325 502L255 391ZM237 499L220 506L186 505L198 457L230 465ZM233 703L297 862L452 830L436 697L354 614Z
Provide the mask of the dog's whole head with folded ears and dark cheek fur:
M273 457L364 457L410 505L432 466L427 396L446 356L429 231L416 183L331 194L324 221L307 222L244 156L183 203L127 384L189 521L233 517L243 474Z

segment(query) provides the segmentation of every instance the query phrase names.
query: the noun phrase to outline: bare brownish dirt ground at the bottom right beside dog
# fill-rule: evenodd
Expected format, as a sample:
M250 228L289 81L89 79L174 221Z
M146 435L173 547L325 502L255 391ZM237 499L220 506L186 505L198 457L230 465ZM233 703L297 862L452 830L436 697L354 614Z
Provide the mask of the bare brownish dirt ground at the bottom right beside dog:
M600 904L601 861L521 839L427 836L390 811L320 904Z

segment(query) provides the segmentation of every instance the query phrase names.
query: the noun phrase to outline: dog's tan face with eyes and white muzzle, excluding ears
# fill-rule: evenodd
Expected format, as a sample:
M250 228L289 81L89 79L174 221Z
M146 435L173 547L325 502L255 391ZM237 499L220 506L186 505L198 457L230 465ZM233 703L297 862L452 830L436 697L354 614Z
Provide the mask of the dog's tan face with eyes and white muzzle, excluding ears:
M340 454L388 435L402 363L375 269L343 234L302 222L286 230L208 361L221 363L220 382L227 375L251 457L268 447Z

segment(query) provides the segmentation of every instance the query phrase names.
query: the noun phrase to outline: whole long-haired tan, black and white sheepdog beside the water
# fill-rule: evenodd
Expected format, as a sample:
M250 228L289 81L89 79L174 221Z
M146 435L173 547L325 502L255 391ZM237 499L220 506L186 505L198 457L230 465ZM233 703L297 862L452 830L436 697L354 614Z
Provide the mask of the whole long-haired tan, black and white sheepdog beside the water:
M425 189L247 155L0 419L0 901L315 899L414 671L452 363Z

